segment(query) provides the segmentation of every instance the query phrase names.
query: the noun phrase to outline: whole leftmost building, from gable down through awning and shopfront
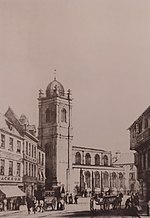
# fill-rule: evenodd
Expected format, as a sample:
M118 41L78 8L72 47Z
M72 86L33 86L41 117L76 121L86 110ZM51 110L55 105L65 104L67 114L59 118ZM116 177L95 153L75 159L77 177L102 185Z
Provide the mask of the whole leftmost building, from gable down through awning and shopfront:
M2 209L18 209L17 204L25 196L23 187L23 137L0 114L0 199L7 199Z

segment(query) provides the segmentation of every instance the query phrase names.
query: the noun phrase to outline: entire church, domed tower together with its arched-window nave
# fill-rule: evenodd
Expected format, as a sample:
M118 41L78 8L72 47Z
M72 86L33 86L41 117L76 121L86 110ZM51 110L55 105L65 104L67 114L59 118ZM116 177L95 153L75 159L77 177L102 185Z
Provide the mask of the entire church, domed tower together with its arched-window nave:
M46 92L39 91L39 146L45 150L46 189L64 185L68 192L87 193L110 189L125 191L123 167L114 166L112 154L73 145L70 89L54 78Z

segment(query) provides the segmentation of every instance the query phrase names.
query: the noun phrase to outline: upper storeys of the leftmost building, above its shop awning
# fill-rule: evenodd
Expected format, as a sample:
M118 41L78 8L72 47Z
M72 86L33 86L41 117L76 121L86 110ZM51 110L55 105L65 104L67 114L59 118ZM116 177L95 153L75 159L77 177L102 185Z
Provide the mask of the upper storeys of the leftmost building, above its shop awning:
M17 185L22 189L23 137L2 114L0 114L0 140L0 185Z

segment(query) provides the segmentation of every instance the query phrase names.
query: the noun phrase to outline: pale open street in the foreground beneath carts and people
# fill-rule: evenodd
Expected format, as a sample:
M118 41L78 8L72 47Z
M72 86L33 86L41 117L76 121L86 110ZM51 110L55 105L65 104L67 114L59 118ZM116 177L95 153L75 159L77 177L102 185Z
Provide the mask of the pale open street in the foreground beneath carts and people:
M126 196L124 196L123 198L123 202L122 202L122 206L124 207L124 202L126 200ZM24 217L28 217L28 218L44 218L44 217L70 217L70 218L74 218L74 217L84 217L84 218L91 218L91 217L111 217L111 218L115 218L117 217L137 217L137 216L133 216L134 214L132 214L132 216L129 216L129 214L124 213L123 210L112 210L112 211L106 211L106 212L101 212L101 211L97 211L96 213L92 213L90 211L90 199L89 198L79 198L79 203L76 204L71 204L71 205L66 205L65 210L62 211L44 211L43 213L36 213L34 214L33 212L31 212L31 214L27 213L27 209L26 207L23 207L20 211L6 211L6 212L0 212L0 217L3 218L24 218ZM141 216L142 217L142 216ZM146 216L144 216L146 217Z

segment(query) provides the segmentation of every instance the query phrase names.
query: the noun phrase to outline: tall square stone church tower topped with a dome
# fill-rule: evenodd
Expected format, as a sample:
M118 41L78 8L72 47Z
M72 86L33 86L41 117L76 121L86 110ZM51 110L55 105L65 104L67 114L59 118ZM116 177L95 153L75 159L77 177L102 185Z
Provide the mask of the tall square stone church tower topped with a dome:
M64 184L70 190L72 168L72 98L54 78L39 91L39 146L45 150L46 189Z

